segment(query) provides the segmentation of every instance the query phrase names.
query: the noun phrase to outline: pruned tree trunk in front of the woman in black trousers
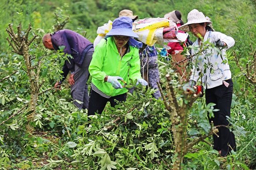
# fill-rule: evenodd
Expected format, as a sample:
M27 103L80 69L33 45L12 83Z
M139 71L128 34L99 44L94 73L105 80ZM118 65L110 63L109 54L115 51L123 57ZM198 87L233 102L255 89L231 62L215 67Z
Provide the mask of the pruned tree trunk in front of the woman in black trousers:
M189 76L189 75L188 75ZM161 96L163 98L163 102L166 106L166 109L170 113L170 120L172 122L172 132L174 138L174 160L173 160L173 168L172 170L181 170L183 163L184 155L188 152L190 148L192 148L195 144L200 141L204 141L207 137L213 135L214 133L218 133L218 129L213 127L211 132L204 135L198 135L197 138L192 140L187 144L187 126L188 126L188 108L192 106L192 104L196 101L196 99L202 94L201 92L193 95L189 95L188 92L183 93L183 104L179 106L176 98L176 92L173 87L173 83L171 81L171 77L169 74L166 74L166 96L162 92L161 85L158 84L158 88L160 90ZM182 86L179 86L182 88ZM166 97L168 98L168 102L166 102ZM187 102L185 102L187 101ZM204 141L205 142L205 141Z

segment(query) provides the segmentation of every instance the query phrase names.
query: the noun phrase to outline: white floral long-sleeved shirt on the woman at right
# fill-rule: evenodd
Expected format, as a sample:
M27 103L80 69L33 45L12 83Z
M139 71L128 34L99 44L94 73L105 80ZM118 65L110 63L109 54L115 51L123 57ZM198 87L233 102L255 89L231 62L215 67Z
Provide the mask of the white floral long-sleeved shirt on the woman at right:
M215 43L218 39L227 44L227 47L221 50L221 55L216 49L209 48L201 52L199 56L193 56L193 69L189 80L200 81L200 74L203 74L202 81L205 89L222 85L222 81L231 78L230 66L226 58L226 50L233 47L235 41L232 37L215 31L207 31L203 41L208 40L211 43ZM193 47L198 47L197 50L192 49L192 55L200 50L198 43L199 41L196 40L192 45Z

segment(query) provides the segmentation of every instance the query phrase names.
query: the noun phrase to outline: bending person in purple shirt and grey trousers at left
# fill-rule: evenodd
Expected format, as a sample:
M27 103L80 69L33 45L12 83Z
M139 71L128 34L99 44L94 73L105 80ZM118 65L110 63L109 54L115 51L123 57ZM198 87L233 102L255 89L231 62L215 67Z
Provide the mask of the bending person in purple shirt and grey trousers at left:
M43 44L50 50L59 50L60 46L65 46L64 54L72 55L73 59L68 58L64 63L62 80L56 82L54 87L60 85L71 71L68 81L71 85L73 103L79 109L88 109L87 80L90 76L88 67L94 53L93 44L72 30L60 30L53 34L45 34Z

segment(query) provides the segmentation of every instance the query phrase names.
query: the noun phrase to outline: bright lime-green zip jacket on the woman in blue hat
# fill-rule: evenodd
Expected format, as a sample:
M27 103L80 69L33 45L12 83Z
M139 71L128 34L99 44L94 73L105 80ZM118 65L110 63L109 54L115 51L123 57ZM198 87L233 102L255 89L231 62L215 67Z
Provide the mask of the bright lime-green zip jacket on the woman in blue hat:
M127 84L129 79L133 81L141 78L139 49L130 46L130 52L122 59L117 51L117 46L113 37L108 37L107 41L102 39L96 46L89 66L92 76L92 83L108 96L117 96L128 92L128 89L114 89L111 83L104 81L105 76L120 76ZM121 85L124 83L121 82Z

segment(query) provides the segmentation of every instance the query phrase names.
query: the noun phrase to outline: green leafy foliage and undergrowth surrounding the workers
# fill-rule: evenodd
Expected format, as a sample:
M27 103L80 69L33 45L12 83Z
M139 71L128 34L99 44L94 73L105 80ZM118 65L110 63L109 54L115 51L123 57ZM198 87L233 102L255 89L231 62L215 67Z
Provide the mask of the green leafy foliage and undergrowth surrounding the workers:
M256 94L255 85L248 83L236 66L232 50L241 55L243 67L251 61L256 48L256 1L255 0L2 0L0 11L0 168L2 169L170 169L173 158L171 123L169 114L159 100L152 98L151 90L136 89L134 96L119 110L106 107L106 114L91 118L87 111L77 110L72 104L68 83L61 91L51 88L64 58L56 52L45 50L41 37L53 33L53 26L70 17L65 29L75 30L93 42L98 26L118 17L122 9L130 9L139 18L163 17L173 10L181 11L183 21L196 8L211 18L214 29L233 37L236 44L228 51L233 74L234 95L232 119L237 139L236 153L220 160L212 148L199 143L185 156L184 169L256 169ZM54 15L59 16L56 20ZM28 78L23 71L23 58L11 52L5 31L8 24L23 29L32 24L38 34L30 53L37 58L44 56L41 65L41 87L38 111L33 125L34 133L25 130L24 109L30 99ZM191 36L194 41L195 38ZM161 48L161 47L160 47ZM166 62L160 55L159 60ZM160 70L164 90L164 75L172 69L169 65ZM175 74L173 80L177 80ZM177 82L174 82L177 83ZM165 92L165 91L164 91ZM142 102L143 101L143 102ZM204 99L199 99L190 109L188 139L205 133ZM25 107L26 108L26 107ZM111 115L109 115L111 113ZM119 119L118 119L119 118ZM118 120L117 120L118 119ZM194 120L201 122L199 129ZM87 127L88 124L92 127ZM197 130L197 131L196 131ZM207 139L211 143L211 138Z

